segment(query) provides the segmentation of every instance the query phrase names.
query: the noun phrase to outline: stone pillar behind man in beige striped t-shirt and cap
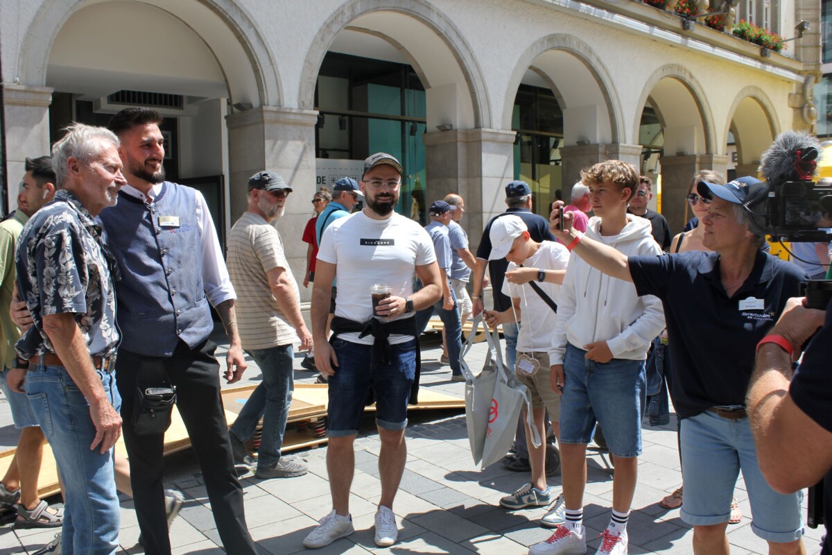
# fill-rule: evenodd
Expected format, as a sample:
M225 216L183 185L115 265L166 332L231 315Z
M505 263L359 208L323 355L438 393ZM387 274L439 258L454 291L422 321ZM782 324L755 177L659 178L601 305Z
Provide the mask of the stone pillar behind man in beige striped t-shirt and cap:
M300 240L313 216L310 201L316 190L314 124L318 112L280 107L257 107L225 116L229 141L230 223L248 206L248 179L258 171L276 171L292 187L284 216L275 222L286 259L300 285L301 300L310 289L301 285L306 270L306 243Z

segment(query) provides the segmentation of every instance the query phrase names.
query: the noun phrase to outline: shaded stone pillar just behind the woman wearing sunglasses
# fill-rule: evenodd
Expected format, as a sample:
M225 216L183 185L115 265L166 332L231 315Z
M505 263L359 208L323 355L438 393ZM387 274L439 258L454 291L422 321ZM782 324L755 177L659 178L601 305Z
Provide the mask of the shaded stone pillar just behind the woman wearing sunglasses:
M661 215L676 235L693 217L685 199L691 180L697 171L713 170L725 177L728 156L711 154L661 156Z

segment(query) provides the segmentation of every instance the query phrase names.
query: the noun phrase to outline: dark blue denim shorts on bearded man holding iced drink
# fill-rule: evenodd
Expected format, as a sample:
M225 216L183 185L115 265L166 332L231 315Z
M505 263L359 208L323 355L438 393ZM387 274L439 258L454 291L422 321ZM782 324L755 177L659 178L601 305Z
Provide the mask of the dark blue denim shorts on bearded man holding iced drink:
M332 340L338 366L329 376L327 433L332 437L358 434L370 390L375 399L375 423L382 429L408 425L410 387L416 373L416 339L390 345L390 364L370 367L373 345Z

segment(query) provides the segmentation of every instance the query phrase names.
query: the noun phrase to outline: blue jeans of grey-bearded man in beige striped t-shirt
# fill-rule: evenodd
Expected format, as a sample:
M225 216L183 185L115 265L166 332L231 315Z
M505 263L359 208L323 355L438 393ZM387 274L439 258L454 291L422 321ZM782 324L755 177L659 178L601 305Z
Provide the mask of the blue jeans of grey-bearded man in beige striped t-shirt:
M283 434L289 405L295 391L295 370L292 361L295 351L292 345L280 345L271 349L248 349L263 372L263 381L251 392L249 400L231 426L231 433L240 441L248 441L254 434L260 418L263 419L263 438L257 450L258 466L272 466L280 461Z

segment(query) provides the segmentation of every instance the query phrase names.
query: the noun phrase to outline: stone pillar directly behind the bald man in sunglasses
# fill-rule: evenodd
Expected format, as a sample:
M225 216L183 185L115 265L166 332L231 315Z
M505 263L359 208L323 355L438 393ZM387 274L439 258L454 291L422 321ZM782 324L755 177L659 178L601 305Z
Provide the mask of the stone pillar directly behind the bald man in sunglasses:
M461 225L475 252L483 228L505 211L505 186L514 178L514 131L471 129L424 135L426 201L448 193L465 199Z

